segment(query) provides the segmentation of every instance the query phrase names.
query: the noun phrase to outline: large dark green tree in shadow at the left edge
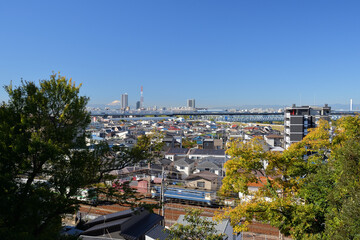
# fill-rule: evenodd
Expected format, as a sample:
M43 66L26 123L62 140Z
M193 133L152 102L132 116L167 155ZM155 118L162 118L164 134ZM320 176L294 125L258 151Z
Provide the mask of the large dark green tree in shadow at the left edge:
M22 81L5 90L9 101L0 107L0 235L56 239L62 216L79 207L76 196L89 187L114 191L103 187L111 179L109 172L144 159L144 151L107 144L88 149L89 99L79 95L80 86L71 79L53 74L39 85ZM121 195L119 203L128 201L127 194Z

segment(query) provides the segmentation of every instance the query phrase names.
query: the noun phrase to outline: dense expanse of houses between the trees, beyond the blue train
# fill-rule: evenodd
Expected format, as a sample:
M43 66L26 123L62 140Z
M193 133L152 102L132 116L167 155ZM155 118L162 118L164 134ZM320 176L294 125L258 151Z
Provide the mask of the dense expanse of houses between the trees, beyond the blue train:
M229 159L226 146L230 141L259 138L266 151L283 151L284 137L280 129L275 130L270 125L215 123L183 118L119 122L111 118L93 117L87 131L92 136L89 144L105 141L110 146L123 148L134 147L142 135L161 134L162 157L154 159L151 164L139 164L114 172L120 180L146 180L151 189L151 185L159 183L164 174L164 181L174 186L215 191L219 190L225 176L224 164ZM191 142L193 147L185 148L183 142ZM164 162L163 158L170 161ZM162 166L165 167L163 173Z

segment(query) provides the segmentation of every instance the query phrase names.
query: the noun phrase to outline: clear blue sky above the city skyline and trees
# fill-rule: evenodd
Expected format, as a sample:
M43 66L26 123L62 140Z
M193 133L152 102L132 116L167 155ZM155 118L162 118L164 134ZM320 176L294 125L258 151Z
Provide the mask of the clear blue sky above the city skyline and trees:
M360 1L1 1L0 83L52 71L91 103L360 103ZM4 90L0 100L6 100Z

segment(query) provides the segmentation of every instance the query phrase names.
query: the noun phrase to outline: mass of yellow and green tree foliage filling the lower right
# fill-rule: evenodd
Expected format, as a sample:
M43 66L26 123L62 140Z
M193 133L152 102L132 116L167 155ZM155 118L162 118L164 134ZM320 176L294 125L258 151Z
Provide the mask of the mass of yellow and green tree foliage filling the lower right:
M236 231L254 219L270 223L295 239L359 237L360 118L342 118L334 128L330 134L321 121L282 154L264 152L257 139L233 142L221 192L253 196L218 218L230 217ZM250 183L259 190L249 192Z

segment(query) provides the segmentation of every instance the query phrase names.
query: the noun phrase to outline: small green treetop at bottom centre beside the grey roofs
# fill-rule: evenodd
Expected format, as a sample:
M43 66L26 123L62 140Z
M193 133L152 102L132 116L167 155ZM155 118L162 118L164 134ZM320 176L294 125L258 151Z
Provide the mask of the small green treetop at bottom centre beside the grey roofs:
M224 234L217 233L215 229L216 223L201 217L201 210L187 209L184 220L188 224L174 224L169 230L169 237L171 240L222 240Z

